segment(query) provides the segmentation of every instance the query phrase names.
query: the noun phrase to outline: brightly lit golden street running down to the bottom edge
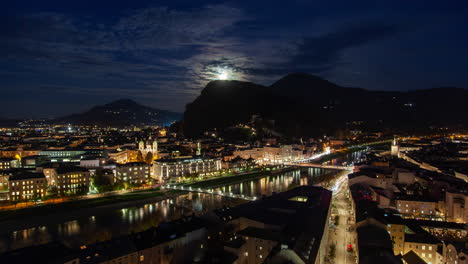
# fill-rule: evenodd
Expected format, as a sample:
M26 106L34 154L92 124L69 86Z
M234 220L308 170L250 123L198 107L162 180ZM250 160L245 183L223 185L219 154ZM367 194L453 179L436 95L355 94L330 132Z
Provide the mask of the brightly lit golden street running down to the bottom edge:
M338 218L338 224L329 227L329 246L327 250L330 251L332 244L336 248L335 257L329 263L353 264L356 263L355 252L348 252L347 247L351 244L354 249L357 239L354 231L347 231L348 227L354 224L354 213L351 210L351 201L347 196L348 174L343 173L343 175L337 178L331 190L333 191L331 213Z

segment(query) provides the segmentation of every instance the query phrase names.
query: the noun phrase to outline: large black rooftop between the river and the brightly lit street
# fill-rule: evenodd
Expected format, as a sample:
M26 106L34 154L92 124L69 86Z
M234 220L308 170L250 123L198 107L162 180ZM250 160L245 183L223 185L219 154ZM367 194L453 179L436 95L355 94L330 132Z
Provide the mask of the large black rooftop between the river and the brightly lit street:
M300 186L233 208L215 210L214 213L224 222L242 217L263 223L265 229L249 227L239 234L279 241L303 261L309 262L316 259L319 241L328 221L330 202L330 191ZM276 249L270 256L281 250Z

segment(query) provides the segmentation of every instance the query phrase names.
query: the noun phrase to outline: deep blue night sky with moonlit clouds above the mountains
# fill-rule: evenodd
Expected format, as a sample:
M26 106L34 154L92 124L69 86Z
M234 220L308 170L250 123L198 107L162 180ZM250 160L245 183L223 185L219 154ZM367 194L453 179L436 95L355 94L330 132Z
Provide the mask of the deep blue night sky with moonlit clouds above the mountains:
M0 116L131 98L182 112L210 80L468 88L468 1L6 1Z

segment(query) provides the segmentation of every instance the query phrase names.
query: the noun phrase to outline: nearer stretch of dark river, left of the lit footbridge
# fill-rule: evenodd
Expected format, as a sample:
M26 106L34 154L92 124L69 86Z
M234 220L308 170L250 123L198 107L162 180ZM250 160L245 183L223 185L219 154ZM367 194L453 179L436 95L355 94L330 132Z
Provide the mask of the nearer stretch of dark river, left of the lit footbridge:
M50 241L79 246L113 236L146 230L163 221L185 215L204 214L223 205L235 206L245 201L203 193L188 193L141 206L108 210L95 216L80 217L55 225L38 226L0 234L0 251L8 251Z

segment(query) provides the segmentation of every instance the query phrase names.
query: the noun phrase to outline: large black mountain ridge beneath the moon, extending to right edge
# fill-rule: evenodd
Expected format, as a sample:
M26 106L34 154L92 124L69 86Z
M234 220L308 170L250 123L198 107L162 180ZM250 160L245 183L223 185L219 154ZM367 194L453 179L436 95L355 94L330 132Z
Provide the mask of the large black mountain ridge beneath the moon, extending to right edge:
M289 74L271 86L212 81L188 104L184 132L223 131L270 120L287 136L320 136L360 129L425 132L433 127L466 128L468 90L434 88L408 92L370 91L336 85L304 73Z

